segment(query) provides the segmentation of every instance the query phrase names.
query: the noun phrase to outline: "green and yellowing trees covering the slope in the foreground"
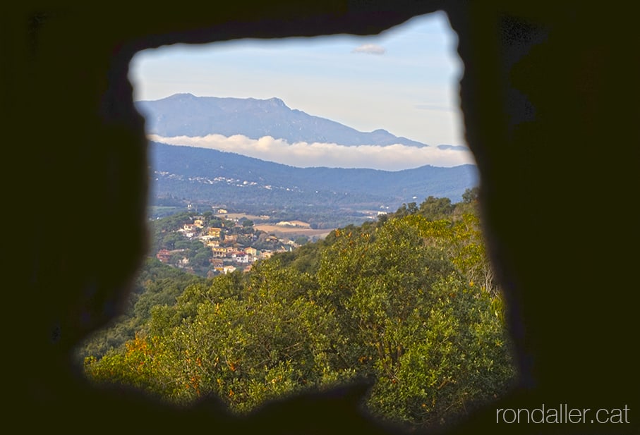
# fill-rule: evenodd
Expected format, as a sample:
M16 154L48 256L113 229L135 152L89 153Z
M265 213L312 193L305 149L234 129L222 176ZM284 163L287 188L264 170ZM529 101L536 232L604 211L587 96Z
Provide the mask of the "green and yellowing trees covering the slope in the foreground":
M366 412L421 428L512 385L504 311L468 190L455 204L403 204L250 271L205 278L149 257L126 313L78 348L78 362L95 384L179 406L215 396L239 415L366 379Z

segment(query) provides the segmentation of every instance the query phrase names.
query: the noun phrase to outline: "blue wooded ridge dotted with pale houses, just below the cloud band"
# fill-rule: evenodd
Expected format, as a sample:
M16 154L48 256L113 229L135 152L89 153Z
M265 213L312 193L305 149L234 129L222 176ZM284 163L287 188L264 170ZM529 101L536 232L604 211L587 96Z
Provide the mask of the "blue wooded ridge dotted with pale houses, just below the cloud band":
M155 195L235 204L397 209L415 198L461 200L478 183L473 165L404 171L296 168L214 149L150 144Z

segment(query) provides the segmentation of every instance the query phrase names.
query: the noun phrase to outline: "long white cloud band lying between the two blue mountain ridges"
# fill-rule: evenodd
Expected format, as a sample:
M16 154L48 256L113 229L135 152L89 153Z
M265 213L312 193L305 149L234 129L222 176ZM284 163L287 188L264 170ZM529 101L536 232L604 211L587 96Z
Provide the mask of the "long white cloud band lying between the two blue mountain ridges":
M358 145L347 147L334 143L296 142L289 144L270 136L250 139L243 135L226 137L162 137L147 135L153 142L183 145L234 152L248 157L275 161L301 168L327 166L330 168L370 168L385 171L416 168L418 166L458 166L475 164L473 154L462 149L439 149L438 147L407 147L406 145Z

